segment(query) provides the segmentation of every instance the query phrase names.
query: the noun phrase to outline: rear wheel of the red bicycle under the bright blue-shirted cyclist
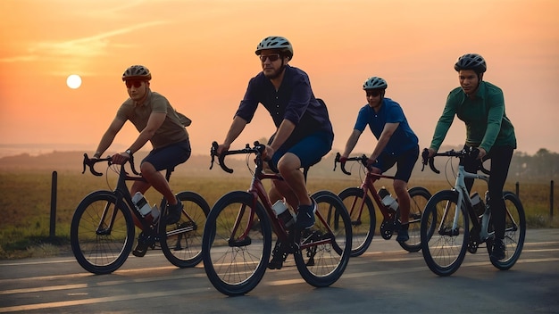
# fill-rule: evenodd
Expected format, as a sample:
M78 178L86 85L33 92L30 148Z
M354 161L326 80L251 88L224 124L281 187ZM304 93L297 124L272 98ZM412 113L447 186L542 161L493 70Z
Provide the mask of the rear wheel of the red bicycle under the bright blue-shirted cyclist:
M410 225L408 227L410 239L406 242L398 242L398 244L407 252L418 252L421 250L421 215L423 214L425 205L431 198L431 194L422 186L414 186L408 190L408 193L411 198ZM399 211L397 215L399 218Z

